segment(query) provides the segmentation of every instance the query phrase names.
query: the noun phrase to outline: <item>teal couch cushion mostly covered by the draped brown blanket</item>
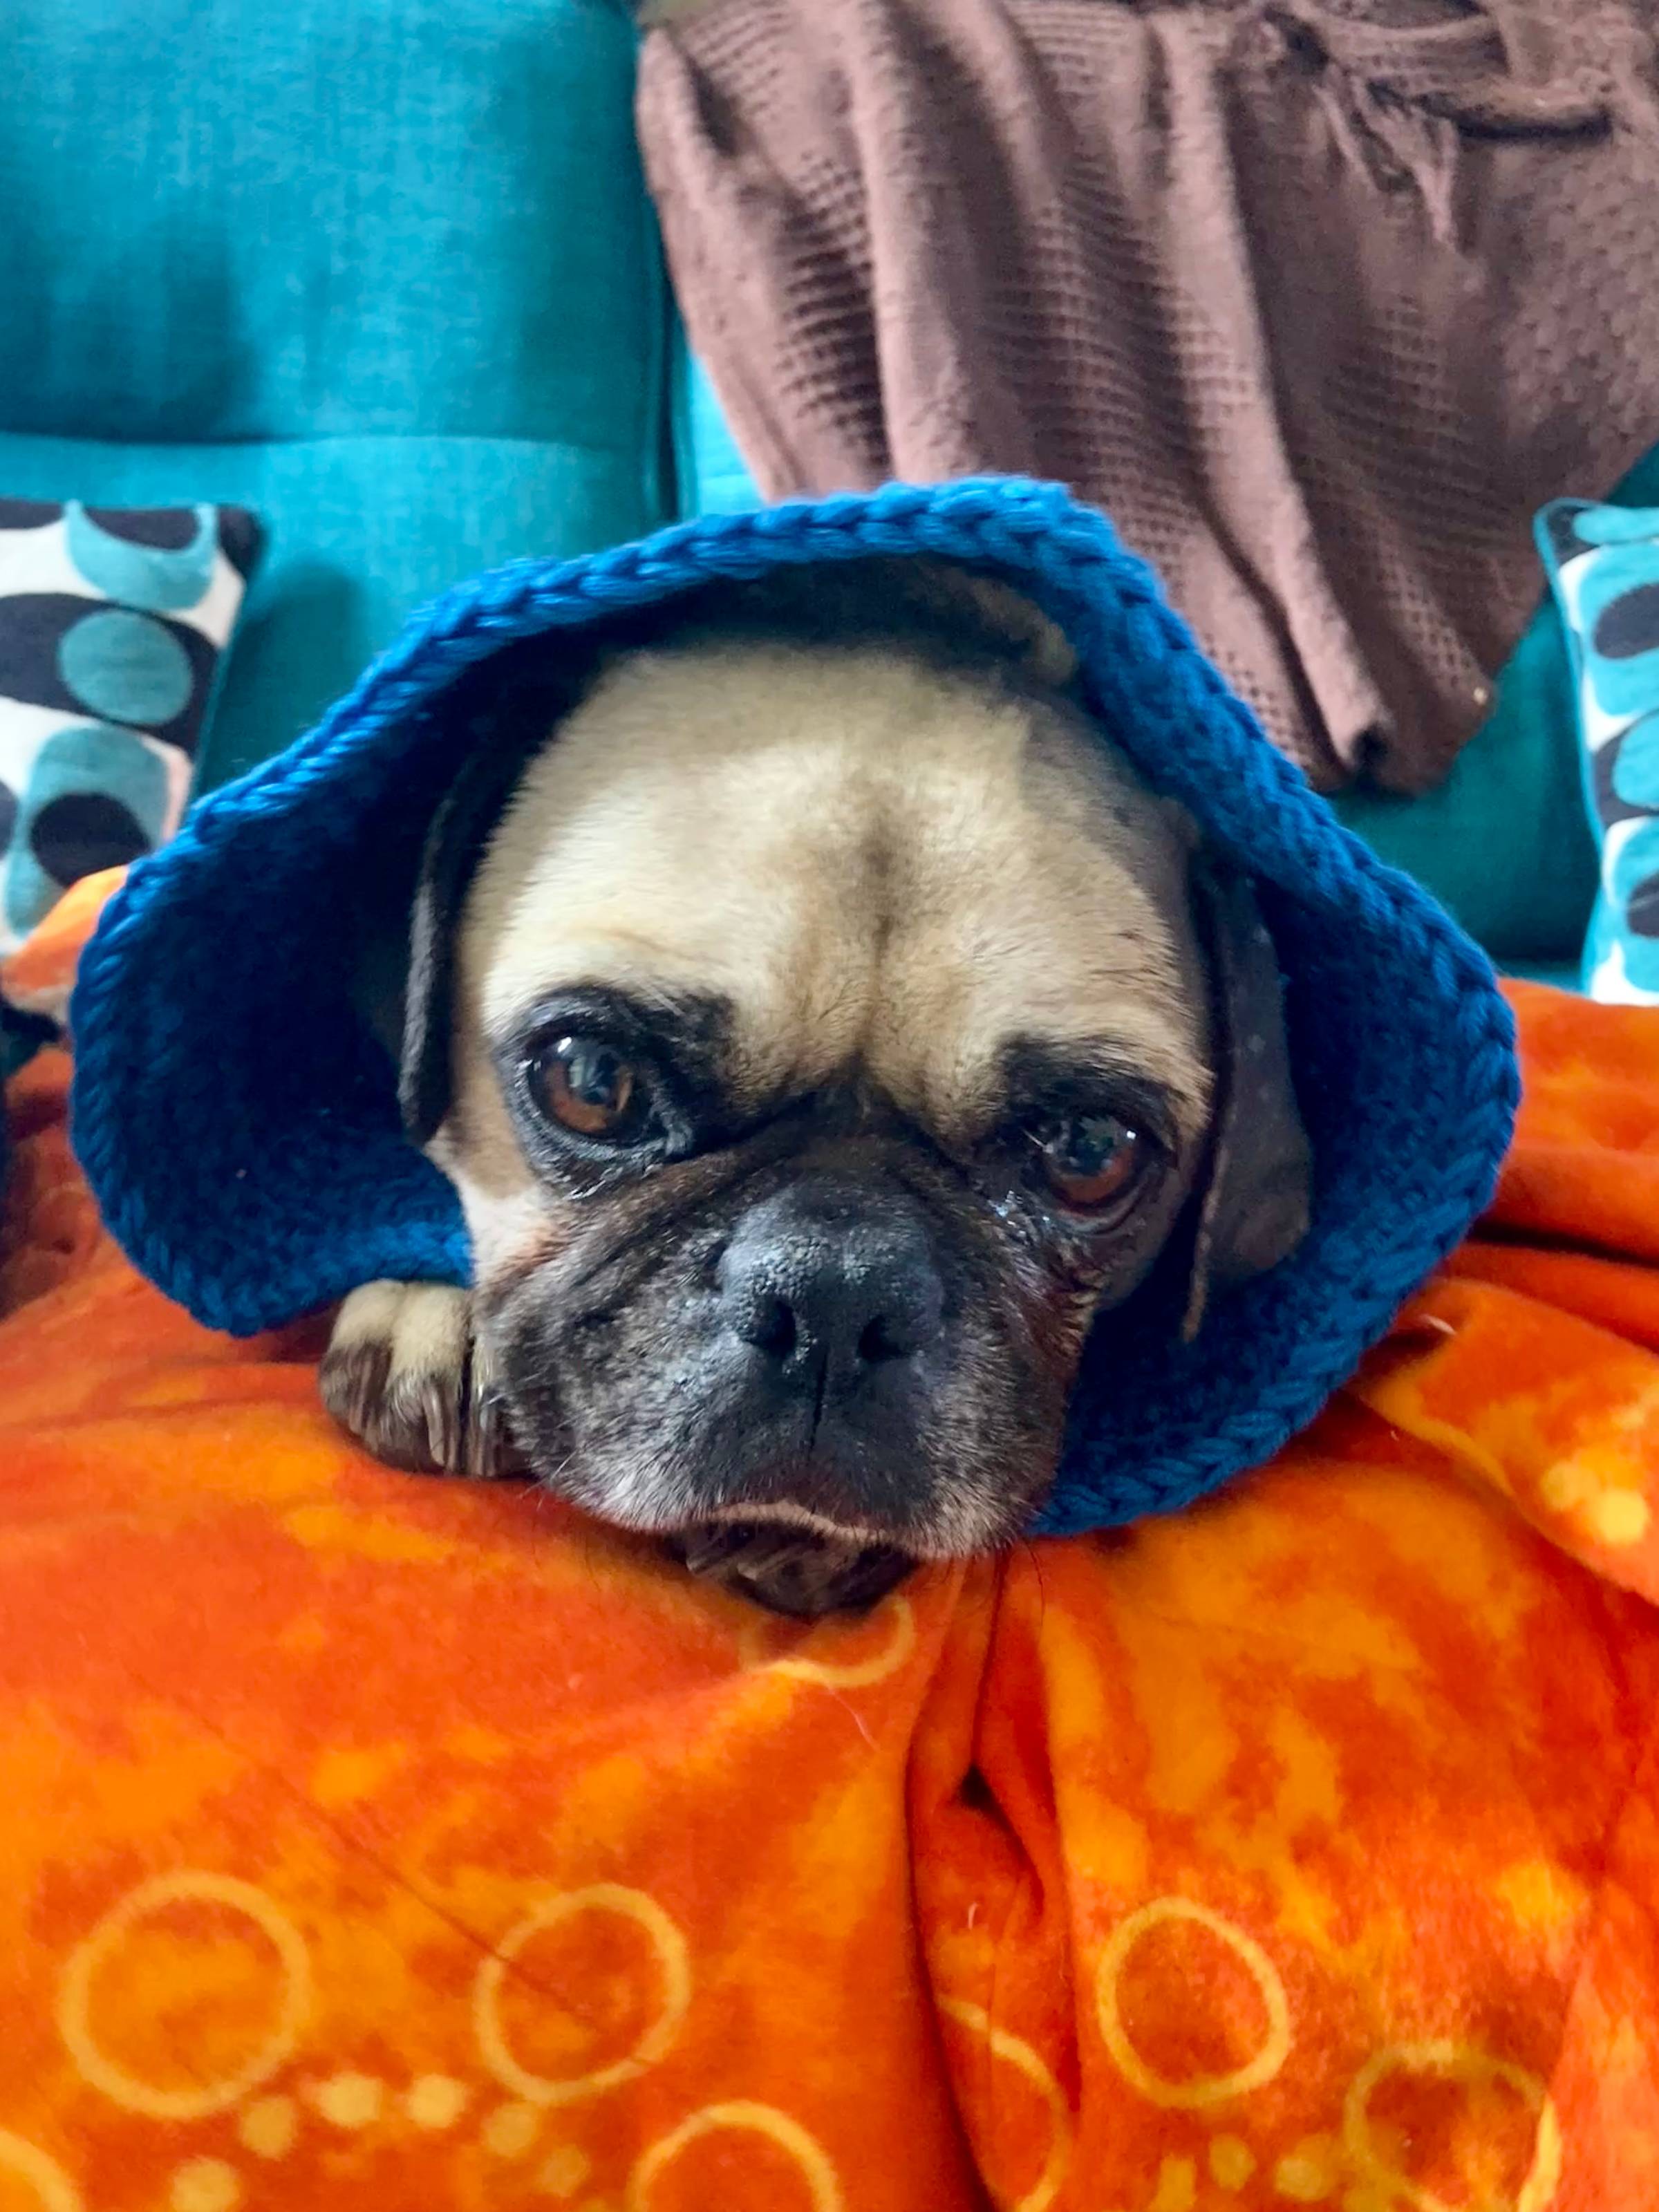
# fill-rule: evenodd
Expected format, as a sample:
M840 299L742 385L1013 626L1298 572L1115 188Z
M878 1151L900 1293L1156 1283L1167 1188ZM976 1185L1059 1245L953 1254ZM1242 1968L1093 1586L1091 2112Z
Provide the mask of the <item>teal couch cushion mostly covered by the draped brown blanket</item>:
M684 511L759 504L708 374L684 338L672 374ZM1613 500L1659 504L1659 449ZM1562 619L1540 575L1537 615L1498 677L1491 714L1447 781L1420 799L1343 792L1336 812L1374 852L1427 885L1504 967L1571 980L1597 883L1575 730Z

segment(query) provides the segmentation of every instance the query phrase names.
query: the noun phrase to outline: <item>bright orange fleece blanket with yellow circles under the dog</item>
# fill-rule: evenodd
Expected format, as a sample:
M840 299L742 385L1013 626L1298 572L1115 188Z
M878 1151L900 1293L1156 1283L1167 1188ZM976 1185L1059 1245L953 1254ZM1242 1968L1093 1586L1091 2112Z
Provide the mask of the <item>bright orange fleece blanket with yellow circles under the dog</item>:
M38 1060L0 2208L1648 2212L1659 1018L1515 1004L1498 1208L1314 1431L812 1628L365 1460Z

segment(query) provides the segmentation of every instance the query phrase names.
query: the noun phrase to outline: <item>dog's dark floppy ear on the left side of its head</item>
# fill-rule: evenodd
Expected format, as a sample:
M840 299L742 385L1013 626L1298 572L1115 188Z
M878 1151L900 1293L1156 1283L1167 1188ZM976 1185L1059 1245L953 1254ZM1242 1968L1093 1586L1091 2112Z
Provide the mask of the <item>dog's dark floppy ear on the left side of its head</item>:
M449 1113L456 938L467 891L531 754L553 737L591 675L593 664L551 668L542 648L540 666L526 659L500 670L489 699L471 712L465 697L456 701L467 750L427 830L409 911L398 1106L416 1144L429 1144Z

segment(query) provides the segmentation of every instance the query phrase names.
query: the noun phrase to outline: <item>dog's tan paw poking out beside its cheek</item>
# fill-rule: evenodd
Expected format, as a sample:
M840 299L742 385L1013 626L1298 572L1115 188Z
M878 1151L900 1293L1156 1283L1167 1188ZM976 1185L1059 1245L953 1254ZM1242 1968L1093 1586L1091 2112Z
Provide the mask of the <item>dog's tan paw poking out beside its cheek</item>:
M507 1475L524 1467L465 1290L354 1290L334 1321L319 1383L334 1420L389 1467L422 1475Z

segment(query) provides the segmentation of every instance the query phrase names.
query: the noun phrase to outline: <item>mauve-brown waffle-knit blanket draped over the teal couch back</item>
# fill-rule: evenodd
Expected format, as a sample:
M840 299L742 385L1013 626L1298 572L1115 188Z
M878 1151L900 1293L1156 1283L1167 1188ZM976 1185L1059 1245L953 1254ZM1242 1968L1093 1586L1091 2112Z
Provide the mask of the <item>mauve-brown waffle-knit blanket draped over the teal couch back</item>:
M770 495L1097 500L1332 787L1438 781L1659 440L1659 0L706 0L639 126Z

